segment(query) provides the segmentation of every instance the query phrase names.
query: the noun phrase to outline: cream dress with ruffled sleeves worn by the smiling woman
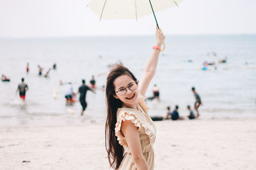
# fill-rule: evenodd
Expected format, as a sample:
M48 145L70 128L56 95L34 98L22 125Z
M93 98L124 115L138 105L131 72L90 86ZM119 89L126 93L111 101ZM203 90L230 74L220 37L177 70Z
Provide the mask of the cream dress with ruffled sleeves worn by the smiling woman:
M134 125L139 127L140 144L142 153L148 165L148 169L154 169L154 150L153 145L156 139L156 127L152 119L148 116L148 106L145 104L145 97L138 93L139 110L132 108L118 108L116 113L115 135L117 140L124 147L124 159L118 169L120 170L135 170L136 164L132 159L131 152L127 145L127 141L123 136L121 129L122 121L131 120Z

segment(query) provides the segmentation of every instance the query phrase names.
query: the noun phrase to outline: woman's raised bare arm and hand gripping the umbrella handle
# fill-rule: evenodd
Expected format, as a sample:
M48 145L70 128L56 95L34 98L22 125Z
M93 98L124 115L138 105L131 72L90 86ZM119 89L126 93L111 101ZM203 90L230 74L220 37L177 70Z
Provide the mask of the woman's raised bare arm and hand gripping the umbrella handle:
M164 41L164 34L161 29L157 28L157 26L156 26L156 40L157 40L156 46L161 47ZM159 54L160 54L160 50L154 49L144 69L143 78L139 83L139 92L143 96L145 96L145 93L147 92L147 89L148 89L148 85L156 73Z

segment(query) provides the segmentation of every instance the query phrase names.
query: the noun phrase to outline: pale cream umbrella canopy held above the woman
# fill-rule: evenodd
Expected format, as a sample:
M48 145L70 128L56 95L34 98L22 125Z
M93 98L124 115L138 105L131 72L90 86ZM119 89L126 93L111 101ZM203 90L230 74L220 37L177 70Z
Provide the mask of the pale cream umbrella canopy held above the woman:
M150 6L150 1L152 7ZM88 7L101 19L138 19L172 6L182 0L92 0Z

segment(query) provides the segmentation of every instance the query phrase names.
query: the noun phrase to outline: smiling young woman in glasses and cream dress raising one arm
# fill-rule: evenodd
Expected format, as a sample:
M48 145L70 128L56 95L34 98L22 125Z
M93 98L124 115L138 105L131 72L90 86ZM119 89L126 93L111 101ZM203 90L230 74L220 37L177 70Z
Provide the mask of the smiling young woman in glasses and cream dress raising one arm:
M145 93L156 73L164 34L156 29L156 46L138 83L134 74L117 65L108 74L106 101L108 116L105 145L111 167L116 169L154 169L156 127L148 116Z

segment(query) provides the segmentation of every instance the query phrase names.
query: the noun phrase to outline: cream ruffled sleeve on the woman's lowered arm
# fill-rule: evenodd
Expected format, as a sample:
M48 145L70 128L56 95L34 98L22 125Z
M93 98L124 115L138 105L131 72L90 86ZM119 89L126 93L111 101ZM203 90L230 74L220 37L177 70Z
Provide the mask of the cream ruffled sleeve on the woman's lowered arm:
M121 132L122 121L131 120L136 127L139 127L139 131L141 130L142 121L136 116L136 113L132 112L133 111L130 108L120 108L116 114L117 121L115 126L115 136L117 137L119 144L122 146L128 146L127 141Z

